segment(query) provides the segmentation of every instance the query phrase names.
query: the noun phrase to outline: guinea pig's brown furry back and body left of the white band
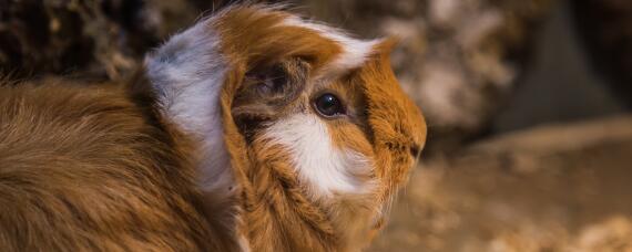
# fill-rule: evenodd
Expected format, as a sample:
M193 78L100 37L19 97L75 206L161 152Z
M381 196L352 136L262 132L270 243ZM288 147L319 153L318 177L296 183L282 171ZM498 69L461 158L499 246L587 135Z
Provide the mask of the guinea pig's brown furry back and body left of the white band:
M116 88L0 85L2 251L224 251L149 111Z

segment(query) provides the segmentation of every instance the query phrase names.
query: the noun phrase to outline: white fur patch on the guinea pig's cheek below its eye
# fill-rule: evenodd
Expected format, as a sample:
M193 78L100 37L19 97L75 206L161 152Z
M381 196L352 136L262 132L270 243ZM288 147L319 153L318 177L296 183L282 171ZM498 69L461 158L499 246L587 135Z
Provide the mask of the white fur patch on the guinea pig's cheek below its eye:
M359 151L338 148L326 123L313 114L296 114L266 128L265 138L288 151L298 180L314 198L368 195L375 188L373 161Z

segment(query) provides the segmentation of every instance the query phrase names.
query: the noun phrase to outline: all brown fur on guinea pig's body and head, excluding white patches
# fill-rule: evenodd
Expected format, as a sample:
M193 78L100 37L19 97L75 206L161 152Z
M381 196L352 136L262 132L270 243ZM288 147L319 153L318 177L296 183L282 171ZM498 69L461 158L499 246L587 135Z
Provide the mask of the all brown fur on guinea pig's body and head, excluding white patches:
M208 27L228 60L220 106L237 188L236 227L210 212L214 202L205 202L194 183L201 143L163 118L141 71L122 87L0 87L0 248L366 246L422 147L424 118L390 70L390 41L377 44L358 69L328 74L343 46L316 31L279 25L288 15L236 7ZM310 101L320 91L336 93L348 107L344 118L325 122L336 148L373 162L370 171L355 175L377 182L370 193L315 196L298 179L289 151L262 134L277 119L315 113Z

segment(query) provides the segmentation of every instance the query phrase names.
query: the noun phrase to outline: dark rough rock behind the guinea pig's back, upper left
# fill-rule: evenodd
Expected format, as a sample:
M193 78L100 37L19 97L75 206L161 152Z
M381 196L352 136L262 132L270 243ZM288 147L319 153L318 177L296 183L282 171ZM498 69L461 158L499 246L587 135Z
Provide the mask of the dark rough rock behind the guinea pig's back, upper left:
M0 0L0 74L116 80L212 1Z

